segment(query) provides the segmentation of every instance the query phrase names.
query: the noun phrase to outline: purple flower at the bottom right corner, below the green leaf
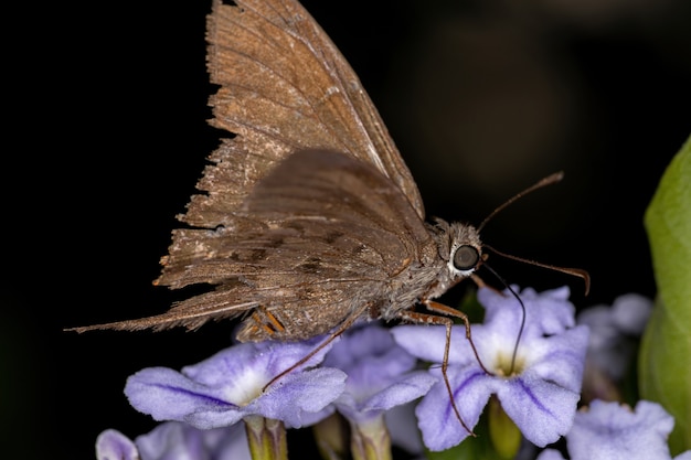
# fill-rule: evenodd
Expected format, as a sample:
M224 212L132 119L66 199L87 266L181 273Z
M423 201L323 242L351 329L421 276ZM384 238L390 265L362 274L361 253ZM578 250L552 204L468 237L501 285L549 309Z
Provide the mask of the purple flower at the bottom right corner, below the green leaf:
M566 435L567 450L572 460L671 460L667 437L673 426L672 416L656 403L638 402L631 411L619 403L594 400L577 413ZM548 449L539 459L562 457ZM691 450L676 457L682 459L691 459Z

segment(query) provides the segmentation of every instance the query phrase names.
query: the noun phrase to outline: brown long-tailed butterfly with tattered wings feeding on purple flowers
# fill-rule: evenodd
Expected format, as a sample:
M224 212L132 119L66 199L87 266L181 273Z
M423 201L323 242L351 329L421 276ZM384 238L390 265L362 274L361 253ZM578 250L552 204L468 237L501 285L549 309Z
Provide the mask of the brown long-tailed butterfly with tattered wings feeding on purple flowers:
M470 329L435 299L482 265L478 228L425 222L376 108L297 1L214 0L206 40L211 124L234 137L211 154L155 285L212 288L162 314L72 330L242 318L241 342L291 341L402 320L446 325L448 355L450 317Z

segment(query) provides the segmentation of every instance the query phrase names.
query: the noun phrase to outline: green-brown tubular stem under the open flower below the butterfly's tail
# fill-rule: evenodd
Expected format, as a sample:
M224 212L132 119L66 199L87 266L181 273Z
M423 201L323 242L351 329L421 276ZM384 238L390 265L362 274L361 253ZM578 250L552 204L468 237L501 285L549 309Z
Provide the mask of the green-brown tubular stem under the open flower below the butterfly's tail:
M251 415L244 418L252 460L288 460L283 421Z

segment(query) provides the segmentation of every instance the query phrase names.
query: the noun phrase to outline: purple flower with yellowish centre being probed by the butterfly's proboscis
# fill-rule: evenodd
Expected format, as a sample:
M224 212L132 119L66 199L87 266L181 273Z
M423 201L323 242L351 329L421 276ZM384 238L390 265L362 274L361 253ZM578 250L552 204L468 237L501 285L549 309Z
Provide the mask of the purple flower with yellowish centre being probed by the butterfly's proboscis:
M491 374L478 364L463 327L454 328L448 366L454 397L466 425L474 427L478 422L495 394L534 445L543 447L568 431L580 398L588 331L586 327L573 327L574 307L567 298L567 288L540 295L525 289L521 293L525 329L512 362L522 310L508 291L478 291L486 320L474 325L472 339ZM445 328L404 325L392 333L415 356L432 363L442 361ZM455 417L440 366L432 366L429 372L438 382L417 406L416 415L425 445L430 450L445 450L463 441L468 432Z

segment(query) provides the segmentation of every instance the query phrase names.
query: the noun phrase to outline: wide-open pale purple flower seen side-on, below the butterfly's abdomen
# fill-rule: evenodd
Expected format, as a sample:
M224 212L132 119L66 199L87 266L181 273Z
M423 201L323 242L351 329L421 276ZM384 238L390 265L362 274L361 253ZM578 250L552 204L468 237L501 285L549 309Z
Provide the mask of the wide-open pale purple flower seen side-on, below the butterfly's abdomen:
M315 424L333 411L346 374L319 364L332 344L274 382L323 340L241 343L177 372L149 367L131 375L125 387L130 404L156 420L184 421L200 429L231 426L258 415L287 427Z

